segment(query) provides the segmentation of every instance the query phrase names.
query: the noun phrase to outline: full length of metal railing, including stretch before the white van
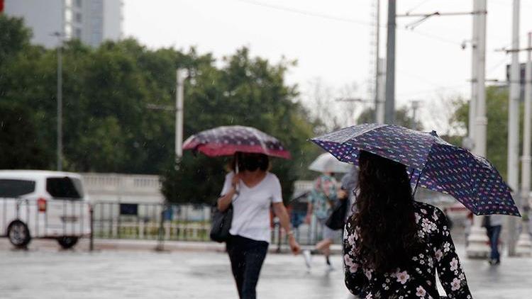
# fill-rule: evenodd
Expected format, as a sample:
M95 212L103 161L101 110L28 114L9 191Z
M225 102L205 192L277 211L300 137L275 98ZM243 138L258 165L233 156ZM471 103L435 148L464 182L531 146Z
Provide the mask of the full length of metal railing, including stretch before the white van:
M48 201L48 204L50 203L51 201ZM57 217L54 219L75 214L80 215L79 220L82 223L78 222L78 227L74 228L70 227L73 223L62 220L60 227L55 223L53 235L50 235L52 223L49 211L39 212L37 201L0 198L0 235L6 235L9 222L19 219L28 226L32 237L60 237L77 231L86 232L90 227L90 249L94 248L94 239L211 241L211 209L214 208L211 205L99 201L92 203L89 208L89 203L82 201L56 201L55 204ZM313 220L310 225L300 224L294 227L294 235L300 244L316 244L321 237L321 227ZM281 229L278 219L273 218L272 246L277 245L280 248L286 243L284 230Z

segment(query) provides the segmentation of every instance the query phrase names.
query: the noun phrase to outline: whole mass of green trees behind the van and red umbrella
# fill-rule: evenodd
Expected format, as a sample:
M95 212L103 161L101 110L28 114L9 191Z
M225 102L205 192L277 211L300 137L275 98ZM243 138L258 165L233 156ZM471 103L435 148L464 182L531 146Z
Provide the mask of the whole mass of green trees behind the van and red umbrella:
M30 45L19 19L1 15L0 29L0 168L54 169L57 51ZM148 108L174 106L182 68L189 73L185 137L218 125L253 126L292 152L293 159L273 161L285 198L295 179L309 176L319 150L307 141L314 126L294 100L296 87L284 82L293 62L272 64L244 47L218 67L194 48L150 50L133 39L98 48L72 40L61 50L66 170L162 174L162 191L175 202L218 196L226 159L186 153L175 164L174 113Z

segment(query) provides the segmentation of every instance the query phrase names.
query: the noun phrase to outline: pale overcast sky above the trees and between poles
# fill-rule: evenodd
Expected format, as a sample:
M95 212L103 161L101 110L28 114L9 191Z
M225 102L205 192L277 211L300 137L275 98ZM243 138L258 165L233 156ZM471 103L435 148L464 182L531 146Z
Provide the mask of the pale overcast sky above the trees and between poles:
M331 89L358 85L353 96L367 96L370 30L375 0L126 0L123 30L148 47L174 46L215 57L242 46L252 55L278 62L297 60L287 81L303 95L309 81L321 78ZM385 56L387 1L382 0L381 55ZM471 11L472 0L401 0L397 13ZM509 57L494 50L511 43L511 0L488 0L487 79L504 79ZM521 47L532 30L532 1L521 1ZM427 126L442 128L434 117L437 99L470 94L471 16L433 17L414 30L397 21L397 106L411 100L425 104L420 114ZM521 61L526 55L521 54Z

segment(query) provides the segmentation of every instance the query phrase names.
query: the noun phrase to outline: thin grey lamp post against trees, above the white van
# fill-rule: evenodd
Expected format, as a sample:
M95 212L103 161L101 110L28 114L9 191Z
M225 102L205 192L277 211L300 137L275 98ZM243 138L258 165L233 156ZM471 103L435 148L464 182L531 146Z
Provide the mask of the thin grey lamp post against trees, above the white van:
M62 33L55 32L57 36L57 171L62 171L63 159L63 66L62 66Z

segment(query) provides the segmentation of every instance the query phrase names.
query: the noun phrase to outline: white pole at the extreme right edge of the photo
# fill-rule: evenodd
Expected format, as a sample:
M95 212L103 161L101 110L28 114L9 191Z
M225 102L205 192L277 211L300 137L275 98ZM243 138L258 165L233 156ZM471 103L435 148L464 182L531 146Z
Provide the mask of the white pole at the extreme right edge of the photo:
M523 157L521 157L521 234L517 239L516 254L531 256L532 240L528 234L528 210L531 179L531 134L532 134L532 32L528 33L528 50L525 69L525 116L523 129Z

